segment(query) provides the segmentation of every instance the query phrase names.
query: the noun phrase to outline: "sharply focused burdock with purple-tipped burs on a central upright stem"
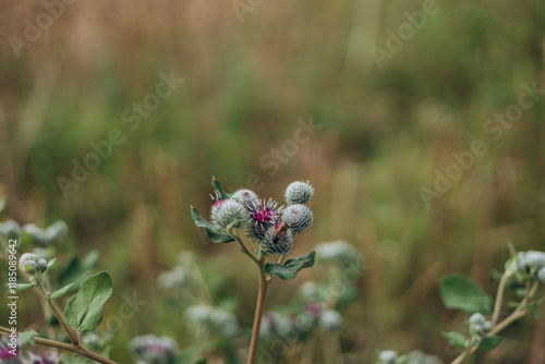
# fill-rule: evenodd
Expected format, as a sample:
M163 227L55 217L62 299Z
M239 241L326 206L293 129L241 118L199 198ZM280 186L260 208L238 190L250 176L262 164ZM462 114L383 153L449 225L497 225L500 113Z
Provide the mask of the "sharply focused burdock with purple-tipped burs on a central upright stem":
M205 229L213 242L235 242L239 250L257 268L257 303L247 359L247 363L252 364L255 363L257 353L267 288L276 277L283 280L293 279L301 269L314 266L315 252L284 262L286 256L293 251L294 236L308 231L313 226L314 216L306 204L312 199L314 189L308 182L291 183L286 190L287 206L283 206L271 198L259 199L255 192L246 189L232 194L227 193L215 178L211 185L214 194L210 195L213 199L210 222L193 206L191 216L198 227ZM247 241L253 247L253 253L246 247ZM267 257L274 255L279 255L278 262L268 263Z

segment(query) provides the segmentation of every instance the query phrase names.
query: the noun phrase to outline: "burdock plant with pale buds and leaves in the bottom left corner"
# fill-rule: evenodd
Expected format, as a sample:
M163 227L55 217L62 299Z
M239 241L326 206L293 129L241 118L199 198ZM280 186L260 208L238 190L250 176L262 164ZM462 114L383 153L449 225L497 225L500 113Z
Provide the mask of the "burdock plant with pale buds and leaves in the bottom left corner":
M55 364L61 361L69 363L58 352L36 355L27 351L24 359L23 345L45 345L72 352L98 363L114 364L107 356L87 349L87 337L82 336L98 327L102 320L102 306L112 292L112 282L107 271L89 275L97 267L97 255L90 253L84 262L71 256L66 265L59 267L57 248L65 240L66 225L57 221L47 229L35 225L20 227L15 221L0 223L0 255L9 262L8 292L12 298L11 325L0 327L4 335L0 342L2 363L38 363ZM20 251L32 250L21 255ZM39 304L51 327L43 333L35 330L17 332L16 300L21 292L35 290L39 294ZM65 296L72 295L70 300ZM64 310L60 304L65 303ZM62 330L62 333L56 329ZM64 339L70 343L64 342ZM83 342L82 342L83 341Z

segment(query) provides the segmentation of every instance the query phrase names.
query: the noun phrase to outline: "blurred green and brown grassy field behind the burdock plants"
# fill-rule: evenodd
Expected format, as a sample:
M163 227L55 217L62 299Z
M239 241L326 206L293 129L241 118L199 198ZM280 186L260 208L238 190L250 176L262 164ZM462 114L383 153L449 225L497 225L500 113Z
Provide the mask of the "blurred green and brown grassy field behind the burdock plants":
M80 254L98 248L116 287L110 314L123 293L150 303L123 324L114 360L129 362L128 340L149 331L191 343L182 314L168 312L154 287L182 250L214 262L208 278L232 282L237 314L251 325L253 267L233 246L203 244L190 218L190 205L208 208L213 174L231 187L256 174L258 193L277 198L293 180L315 185L315 227L295 254L339 238L361 250L368 269L347 312L347 345L363 362L388 348L452 357L439 332L463 329L464 317L440 304L440 277L468 274L494 292L491 271L501 269L508 241L544 246L543 99L498 142L483 124L517 102L521 84L545 86L545 3L437 7L380 69L370 48L386 49L386 29L422 2L265 1L241 22L231 2L78 1L20 58L8 38L23 38L24 20L44 7L2 3L8 215L20 223L64 219ZM160 72L184 83L131 131L121 113L154 93ZM269 175L261 158L293 138L300 118L322 129ZM57 178L70 178L72 160L112 129L126 141L64 198ZM452 153L476 138L487 154L426 208L420 187L433 187L434 171L445 173ZM313 275L276 288L270 306ZM27 324L39 317L31 304L22 310ZM481 362L543 363L544 331L543 318L523 320Z

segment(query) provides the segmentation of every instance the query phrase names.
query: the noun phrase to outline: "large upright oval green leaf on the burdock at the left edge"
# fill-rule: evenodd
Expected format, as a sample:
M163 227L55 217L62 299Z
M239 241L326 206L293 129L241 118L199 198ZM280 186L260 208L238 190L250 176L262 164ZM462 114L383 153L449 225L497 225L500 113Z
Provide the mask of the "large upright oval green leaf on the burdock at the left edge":
M64 315L68 324L80 332L96 329L102 320L102 306L111 291L111 278L107 271L88 277L82 282L80 292L66 304Z

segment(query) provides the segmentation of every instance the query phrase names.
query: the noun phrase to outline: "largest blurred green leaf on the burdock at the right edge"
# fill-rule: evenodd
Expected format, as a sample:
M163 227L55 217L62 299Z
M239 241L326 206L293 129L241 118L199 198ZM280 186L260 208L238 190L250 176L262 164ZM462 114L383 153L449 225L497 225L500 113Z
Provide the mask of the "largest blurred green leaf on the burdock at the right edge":
M486 316L492 313L493 298L462 275L443 278L439 290L447 308L462 310L469 315L481 313Z

